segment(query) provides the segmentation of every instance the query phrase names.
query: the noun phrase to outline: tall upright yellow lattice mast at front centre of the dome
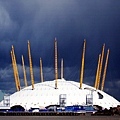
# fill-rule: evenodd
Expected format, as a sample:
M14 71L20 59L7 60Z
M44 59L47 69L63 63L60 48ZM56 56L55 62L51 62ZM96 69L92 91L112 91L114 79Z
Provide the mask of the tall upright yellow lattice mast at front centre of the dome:
M58 79L58 60L57 60L57 39L55 38L55 89L57 89L57 79Z

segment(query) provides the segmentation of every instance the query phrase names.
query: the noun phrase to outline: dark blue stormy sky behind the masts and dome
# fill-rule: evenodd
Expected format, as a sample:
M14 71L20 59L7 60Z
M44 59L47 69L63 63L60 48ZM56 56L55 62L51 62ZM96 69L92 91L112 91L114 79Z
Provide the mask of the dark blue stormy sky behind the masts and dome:
M98 55L105 43L110 49L104 91L120 101L120 0L0 0L0 90L15 92L10 50L15 47L21 86L24 55L29 78L27 41L35 83L40 81L39 59L45 80L54 79L54 39L58 41L58 63L64 59L64 78L79 81L83 41L86 39L83 82L94 85ZM105 57L104 57L105 61ZM60 77L60 76L59 76Z

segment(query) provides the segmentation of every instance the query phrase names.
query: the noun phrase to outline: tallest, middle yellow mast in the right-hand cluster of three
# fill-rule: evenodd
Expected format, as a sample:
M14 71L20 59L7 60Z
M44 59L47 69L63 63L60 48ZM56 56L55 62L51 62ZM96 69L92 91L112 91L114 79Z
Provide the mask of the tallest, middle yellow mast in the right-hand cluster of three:
M100 85L100 78L101 78L102 64L103 64L103 57L104 57L104 49L105 49L105 44L103 45L103 48L102 48L102 55L101 55L101 60L100 60L100 69L98 72L98 81L97 81L96 89L99 89L99 85Z

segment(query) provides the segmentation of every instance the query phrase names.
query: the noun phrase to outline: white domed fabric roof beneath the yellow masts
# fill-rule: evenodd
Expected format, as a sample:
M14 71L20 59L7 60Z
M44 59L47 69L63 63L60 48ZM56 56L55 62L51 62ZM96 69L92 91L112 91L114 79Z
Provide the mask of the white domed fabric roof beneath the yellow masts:
M35 84L34 90L32 90L32 86L28 86L15 92L10 96L10 107L21 105L28 110L31 107L44 108L48 105L92 104L109 109L120 105L120 102L112 96L86 84L79 89L78 82L58 79L57 83L58 89L55 89L55 81L46 81ZM4 101L0 103L0 106L3 105Z

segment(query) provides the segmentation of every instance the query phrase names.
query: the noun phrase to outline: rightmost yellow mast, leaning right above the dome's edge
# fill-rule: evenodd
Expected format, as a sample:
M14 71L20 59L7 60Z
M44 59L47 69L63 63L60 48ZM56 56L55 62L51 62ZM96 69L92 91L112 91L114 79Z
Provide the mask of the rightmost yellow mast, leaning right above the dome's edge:
M108 49L108 51L107 51L107 56L106 56L105 67L104 67L104 72L103 72L102 84L101 84L101 90L102 90L102 91L103 91L104 83L105 83L105 77L106 77L106 71L107 71L109 53L110 53L110 51L109 51L109 49Z

